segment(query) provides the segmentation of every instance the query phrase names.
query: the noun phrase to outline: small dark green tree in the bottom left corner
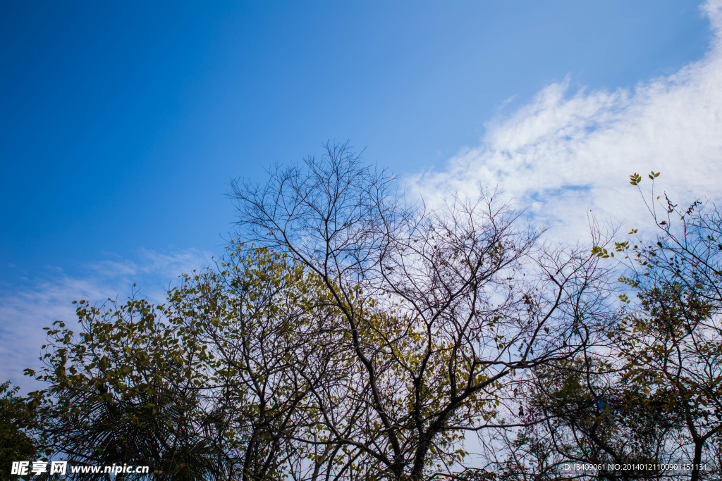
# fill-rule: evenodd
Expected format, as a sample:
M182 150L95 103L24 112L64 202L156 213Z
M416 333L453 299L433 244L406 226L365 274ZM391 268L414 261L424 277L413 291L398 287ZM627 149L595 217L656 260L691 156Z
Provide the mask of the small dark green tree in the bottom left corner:
M10 381L0 384L0 466L3 479L12 479L12 462L33 461L38 454L38 441L28 434L35 425L35 412L22 397L19 387Z

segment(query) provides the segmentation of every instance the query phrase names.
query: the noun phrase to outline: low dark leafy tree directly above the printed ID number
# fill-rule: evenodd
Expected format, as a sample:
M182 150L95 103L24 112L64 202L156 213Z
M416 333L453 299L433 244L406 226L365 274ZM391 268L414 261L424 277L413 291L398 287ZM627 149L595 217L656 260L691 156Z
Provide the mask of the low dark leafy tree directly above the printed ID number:
M514 479L669 475L658 466L679 462L679 453L669 446L679 415L660 409L658 395L625 384L614 358L590 353L534 370L523 399L525 428L507 440ZM565 469L570 463L594 468L570 472Z

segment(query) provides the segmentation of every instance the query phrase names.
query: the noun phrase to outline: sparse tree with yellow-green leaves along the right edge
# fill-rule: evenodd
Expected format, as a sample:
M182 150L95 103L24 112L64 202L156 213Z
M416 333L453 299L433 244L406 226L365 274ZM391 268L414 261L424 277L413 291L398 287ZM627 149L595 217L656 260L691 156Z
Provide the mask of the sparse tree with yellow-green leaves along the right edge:
M641 177L630 180L639 185ZM722 216L699 200L681 209L664 198L647 202L661 231L656 242L617 244L632 271L620 281L638 292L642 308L622 317L617 339L622 380L682 420L678 444L689 447L684 456L696 481L722 476Z

